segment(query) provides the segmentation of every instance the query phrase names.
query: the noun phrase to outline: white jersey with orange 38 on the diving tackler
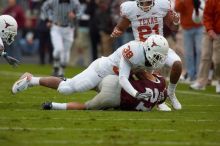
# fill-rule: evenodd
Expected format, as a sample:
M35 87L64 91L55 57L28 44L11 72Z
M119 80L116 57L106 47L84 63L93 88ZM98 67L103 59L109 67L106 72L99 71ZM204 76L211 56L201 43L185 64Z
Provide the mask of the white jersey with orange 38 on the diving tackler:
M108 58L113 65L119 67L121 58L130 62L132 68L145 67L145 51L143 44L139 41L130 41L118 48Z

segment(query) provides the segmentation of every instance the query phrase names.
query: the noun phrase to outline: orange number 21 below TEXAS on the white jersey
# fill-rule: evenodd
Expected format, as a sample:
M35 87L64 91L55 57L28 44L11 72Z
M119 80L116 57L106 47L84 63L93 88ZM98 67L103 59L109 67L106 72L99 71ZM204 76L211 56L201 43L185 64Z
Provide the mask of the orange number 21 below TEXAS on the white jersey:
M153 28L151 28L148 25L145 26L139 26L137 28L139 33L139 39L140 41L144 42L147 38L145 35L149 35L151 33L159 34L159 24L155 24Z

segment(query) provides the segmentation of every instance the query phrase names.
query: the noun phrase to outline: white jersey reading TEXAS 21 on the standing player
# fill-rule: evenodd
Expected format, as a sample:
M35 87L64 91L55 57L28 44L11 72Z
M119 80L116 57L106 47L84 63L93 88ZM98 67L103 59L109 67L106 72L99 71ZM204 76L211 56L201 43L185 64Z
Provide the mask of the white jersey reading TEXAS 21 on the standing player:
M171 9L169 0L155 0L155 5L148 12L144 12L136 1L127 1L121 4L121 16L131 21L135 40L145 41L149 35L163 36L163 17Z

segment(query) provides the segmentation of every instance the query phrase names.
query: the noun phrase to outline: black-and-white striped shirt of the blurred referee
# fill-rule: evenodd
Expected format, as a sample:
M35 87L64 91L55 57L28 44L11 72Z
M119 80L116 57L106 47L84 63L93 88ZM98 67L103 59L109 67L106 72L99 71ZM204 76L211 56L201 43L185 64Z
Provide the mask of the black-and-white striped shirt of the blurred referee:
M68 17L69 12L74 12L76 18L80 16L79 0L47 0L41 8L45 19L60 26L71 26L75 24L75 19Z

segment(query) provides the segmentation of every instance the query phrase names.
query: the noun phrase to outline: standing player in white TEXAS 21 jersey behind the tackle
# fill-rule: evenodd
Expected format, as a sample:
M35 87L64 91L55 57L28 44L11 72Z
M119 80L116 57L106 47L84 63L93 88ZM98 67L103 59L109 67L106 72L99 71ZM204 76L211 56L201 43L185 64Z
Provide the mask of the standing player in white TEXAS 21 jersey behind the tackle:
M179 15L171 10L169 0L126 1L121 4L120 9L121 19L114 28L112 37L121 36L130 25L135 40L138 41L145 41L152 34L163 35L164 24L173 31L178 30ZM173 108L180 110L182 106L175 96L175 90L182 73L181 59L172 49L169 49L165 64L171 67L168 96ZM167 108L166 105L160 106L161 110Z

